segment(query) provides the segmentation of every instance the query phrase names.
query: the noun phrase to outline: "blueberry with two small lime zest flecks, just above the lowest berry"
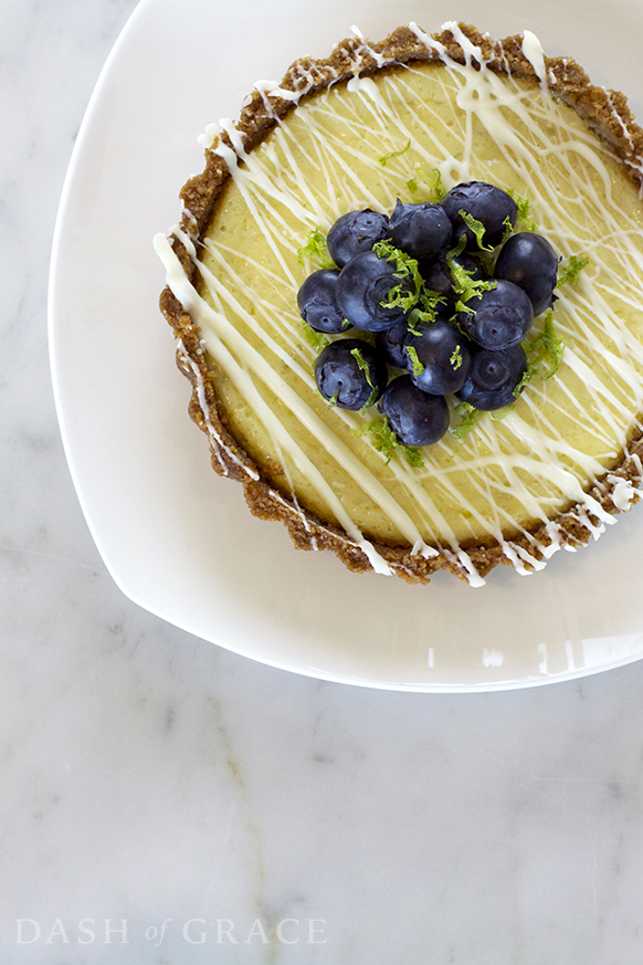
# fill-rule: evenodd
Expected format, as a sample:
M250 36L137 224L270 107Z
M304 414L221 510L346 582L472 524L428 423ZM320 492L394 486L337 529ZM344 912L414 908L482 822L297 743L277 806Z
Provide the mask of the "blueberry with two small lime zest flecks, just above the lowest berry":
M456 392L471 368L467 339L444 318L418 331L420 334L410 334L405 344L411 380L422 391L435 396Z

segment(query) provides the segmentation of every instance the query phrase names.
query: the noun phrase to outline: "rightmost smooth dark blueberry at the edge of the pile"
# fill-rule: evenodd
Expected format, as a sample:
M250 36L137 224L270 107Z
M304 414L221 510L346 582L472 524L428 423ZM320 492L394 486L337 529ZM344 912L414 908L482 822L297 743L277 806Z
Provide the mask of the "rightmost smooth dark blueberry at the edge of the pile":
M519 285L529 295L534 314L539 315L554 305L559 261L546 238L523 231L503 244L494 277Z

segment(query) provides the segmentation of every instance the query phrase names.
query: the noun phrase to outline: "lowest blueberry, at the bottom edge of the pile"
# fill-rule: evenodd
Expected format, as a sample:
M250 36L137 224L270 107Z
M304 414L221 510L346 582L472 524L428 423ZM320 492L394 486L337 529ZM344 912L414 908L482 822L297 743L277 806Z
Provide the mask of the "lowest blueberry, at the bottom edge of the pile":
M403 445L432 445L449 429L449 406L444 396L430 396L410 376L393 379L379 409Z

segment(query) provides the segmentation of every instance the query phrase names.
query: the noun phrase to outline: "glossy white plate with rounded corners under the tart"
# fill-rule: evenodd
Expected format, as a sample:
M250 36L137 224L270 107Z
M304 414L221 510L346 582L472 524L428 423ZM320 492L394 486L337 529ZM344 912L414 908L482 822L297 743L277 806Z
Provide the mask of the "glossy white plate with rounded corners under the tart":
M236 116L259 78L325 55L352 24L372 38L445 20L492 35L529 29L572 54L643 117L640 0L143 0L101 76L56 229L50 339L67 458L87 522L124 592L255 660L368 686L474 691L569 680L643 654L643 510L531 577L482 589L351 575L297 553L210 469L188 382L157 311L151 239L202 167L198 135ZM583 24L582 33L578 24Z

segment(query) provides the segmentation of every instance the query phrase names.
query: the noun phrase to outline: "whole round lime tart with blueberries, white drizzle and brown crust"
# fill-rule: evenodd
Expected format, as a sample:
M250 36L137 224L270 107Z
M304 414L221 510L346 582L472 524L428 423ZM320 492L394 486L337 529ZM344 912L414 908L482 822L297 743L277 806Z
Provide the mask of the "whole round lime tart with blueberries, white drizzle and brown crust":
M295 545L473 586L642 485L643 133L529 32L354 29L259 82L156 249L212 465Z

